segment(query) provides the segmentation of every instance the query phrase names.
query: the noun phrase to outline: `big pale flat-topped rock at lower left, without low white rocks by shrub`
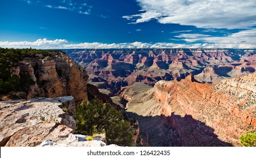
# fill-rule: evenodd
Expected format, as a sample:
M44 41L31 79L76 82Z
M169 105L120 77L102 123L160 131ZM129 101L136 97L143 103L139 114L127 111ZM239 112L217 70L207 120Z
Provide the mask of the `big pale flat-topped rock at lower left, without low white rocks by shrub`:
M36 146L57 128L76 128L72 96L0 102L1 146ZM65 112L64 112L65 111Z

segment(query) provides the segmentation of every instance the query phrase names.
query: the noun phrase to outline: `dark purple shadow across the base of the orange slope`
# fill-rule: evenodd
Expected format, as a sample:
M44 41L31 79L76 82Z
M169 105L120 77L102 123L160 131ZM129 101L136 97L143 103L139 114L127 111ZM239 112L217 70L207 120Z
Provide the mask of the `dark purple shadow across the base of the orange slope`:
M127 112L138 120L140 137L149 146L225 147L232 144L220 141L214 129L190 115L181 117L172 113L170 117L139 116Z

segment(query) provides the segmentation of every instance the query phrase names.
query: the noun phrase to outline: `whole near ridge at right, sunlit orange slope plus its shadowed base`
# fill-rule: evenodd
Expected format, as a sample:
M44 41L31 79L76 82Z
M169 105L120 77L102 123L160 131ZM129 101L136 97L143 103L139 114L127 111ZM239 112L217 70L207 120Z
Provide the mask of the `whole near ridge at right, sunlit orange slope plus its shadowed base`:
M255 73L216 85L200 84L188 76L181 81L159 81L140 94L132 94L128 87L123 96L130 99L127 111L140 125L155 118L154 132L166 129L159 139L166 137L167 146L241 146L239 137L256 130L255 85ZM152 133L147 126L140 130Z

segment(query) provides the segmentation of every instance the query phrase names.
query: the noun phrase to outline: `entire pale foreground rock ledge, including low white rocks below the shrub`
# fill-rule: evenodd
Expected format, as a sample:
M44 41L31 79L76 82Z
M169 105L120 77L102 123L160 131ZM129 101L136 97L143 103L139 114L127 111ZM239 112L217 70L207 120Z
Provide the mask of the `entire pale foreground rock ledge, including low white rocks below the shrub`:
M106 146L73 134L75 114L73 96L0 102L0 146Z

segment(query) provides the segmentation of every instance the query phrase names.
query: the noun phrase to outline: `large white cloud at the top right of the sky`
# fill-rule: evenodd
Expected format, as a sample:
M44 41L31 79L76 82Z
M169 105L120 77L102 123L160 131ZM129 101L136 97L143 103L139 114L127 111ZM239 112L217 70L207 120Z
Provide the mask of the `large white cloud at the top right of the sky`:
M198 28L248 28L256 25L255 0L137 0L141 14L123 18L133 24L153 19Z

